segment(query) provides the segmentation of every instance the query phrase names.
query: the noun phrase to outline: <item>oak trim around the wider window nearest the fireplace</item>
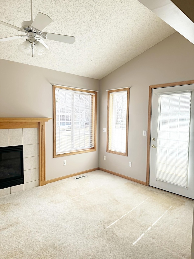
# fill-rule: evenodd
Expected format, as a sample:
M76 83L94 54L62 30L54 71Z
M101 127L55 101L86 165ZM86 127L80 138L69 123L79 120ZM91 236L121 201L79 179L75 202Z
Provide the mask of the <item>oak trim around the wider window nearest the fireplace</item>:
M92 98L95 98L95 102L92 103L92 123L94 125L94 127L92 128L92 130L94 131L94 147L93 148L72 150L72 151L68 151L67 153L62 153L62 154L56 155L56 105L55 105L56 104L56 99L55 99L55 89L56 88L94 94L92 97ZM83 90L83 89L53 85L53 157L54 158L62 157L62 156L66 156L66 155L75 155L75 154L82 154L82 153L96 151L96 124L97 124L97 92L92 91L92 90L90 91L90 90Z

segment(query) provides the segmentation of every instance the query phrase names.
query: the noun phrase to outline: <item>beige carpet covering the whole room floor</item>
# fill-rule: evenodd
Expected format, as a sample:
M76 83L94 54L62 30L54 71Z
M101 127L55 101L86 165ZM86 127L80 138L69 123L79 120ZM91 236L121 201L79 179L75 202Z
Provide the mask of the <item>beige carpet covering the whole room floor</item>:
M0 258L190 258L191 200L86 175L0 197Z

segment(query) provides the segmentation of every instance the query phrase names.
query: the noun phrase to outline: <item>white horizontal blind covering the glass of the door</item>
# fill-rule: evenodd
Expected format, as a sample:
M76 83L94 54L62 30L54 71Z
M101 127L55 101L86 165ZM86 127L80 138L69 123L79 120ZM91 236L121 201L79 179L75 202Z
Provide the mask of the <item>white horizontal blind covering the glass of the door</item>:
M191 92L158 97L156 179L187 187Z

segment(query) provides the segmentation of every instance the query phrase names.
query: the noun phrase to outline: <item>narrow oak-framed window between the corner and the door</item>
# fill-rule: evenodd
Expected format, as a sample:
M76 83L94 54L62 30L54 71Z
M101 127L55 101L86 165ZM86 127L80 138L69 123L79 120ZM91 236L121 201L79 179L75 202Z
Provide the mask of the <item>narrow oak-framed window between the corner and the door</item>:
M108 91L107 152L127 156L129 88Z

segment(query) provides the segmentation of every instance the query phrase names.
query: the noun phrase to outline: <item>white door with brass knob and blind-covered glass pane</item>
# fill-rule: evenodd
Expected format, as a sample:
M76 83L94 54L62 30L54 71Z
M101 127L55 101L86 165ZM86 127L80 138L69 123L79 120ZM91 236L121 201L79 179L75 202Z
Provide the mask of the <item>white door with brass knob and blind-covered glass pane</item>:
M149 185L194 198L194 85L152 89ZM191 90L191 91L189 91Z

